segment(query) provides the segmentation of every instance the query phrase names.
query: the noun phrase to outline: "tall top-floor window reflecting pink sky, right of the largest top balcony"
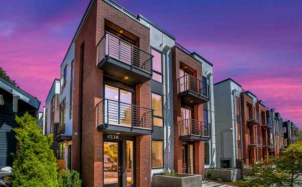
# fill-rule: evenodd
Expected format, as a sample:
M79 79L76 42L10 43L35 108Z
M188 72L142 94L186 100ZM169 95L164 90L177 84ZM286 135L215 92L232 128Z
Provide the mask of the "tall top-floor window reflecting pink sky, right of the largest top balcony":
M152 48L151 54L154 56L152 59L152 79L163 83L162 53Z

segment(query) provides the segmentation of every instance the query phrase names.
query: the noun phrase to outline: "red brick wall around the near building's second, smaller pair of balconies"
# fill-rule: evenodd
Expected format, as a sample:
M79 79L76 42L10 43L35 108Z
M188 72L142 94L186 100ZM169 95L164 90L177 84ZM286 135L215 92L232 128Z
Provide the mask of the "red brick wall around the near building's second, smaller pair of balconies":
M184 53L177 47L172 48L172 76L173 76L173 123L174 123L174 169L181 172L181 140L179 138L178 121L181 120L180 108L181 100L177 92L177 79L179 78L180 63L184 63L196 70L193 74L199 80L202 79L202 64L193 57ZM203 105L194 106L194 118L203 121ZM196 142L195 147L195 172L201 174L204 170L204 142Z

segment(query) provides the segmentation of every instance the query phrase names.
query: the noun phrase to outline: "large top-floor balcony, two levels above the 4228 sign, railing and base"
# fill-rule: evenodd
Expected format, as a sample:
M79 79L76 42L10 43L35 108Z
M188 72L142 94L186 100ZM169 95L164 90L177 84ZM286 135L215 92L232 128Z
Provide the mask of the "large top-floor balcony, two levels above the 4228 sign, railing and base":
M104 74L137 84L152 77L153 56L106 33L97 45L97 66Z

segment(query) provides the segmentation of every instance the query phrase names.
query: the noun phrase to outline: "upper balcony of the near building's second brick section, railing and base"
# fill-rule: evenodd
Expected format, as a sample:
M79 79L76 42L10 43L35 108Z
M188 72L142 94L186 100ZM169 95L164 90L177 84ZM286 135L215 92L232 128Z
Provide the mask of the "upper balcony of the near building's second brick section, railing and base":
M177 80L178 96L184 104L199 105L209 101L209 85L186 74Z

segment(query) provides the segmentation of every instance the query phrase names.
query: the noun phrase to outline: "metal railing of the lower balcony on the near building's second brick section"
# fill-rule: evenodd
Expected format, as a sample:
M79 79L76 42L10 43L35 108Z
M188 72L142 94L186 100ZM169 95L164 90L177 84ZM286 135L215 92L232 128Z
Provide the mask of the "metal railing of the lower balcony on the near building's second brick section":
M194 119L186 119L178 122L179 136L210 137L210 125Z

